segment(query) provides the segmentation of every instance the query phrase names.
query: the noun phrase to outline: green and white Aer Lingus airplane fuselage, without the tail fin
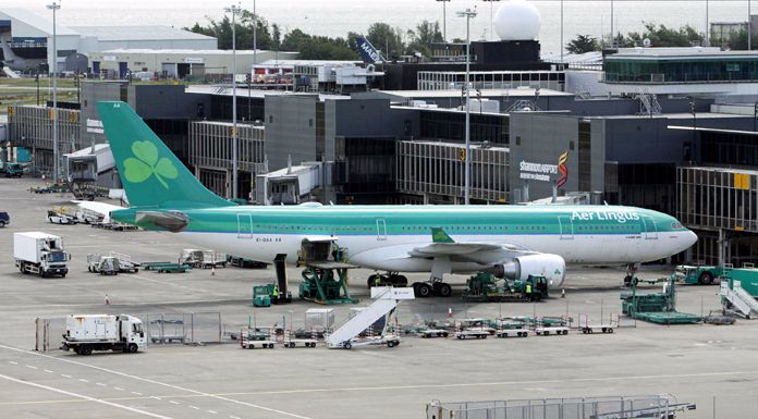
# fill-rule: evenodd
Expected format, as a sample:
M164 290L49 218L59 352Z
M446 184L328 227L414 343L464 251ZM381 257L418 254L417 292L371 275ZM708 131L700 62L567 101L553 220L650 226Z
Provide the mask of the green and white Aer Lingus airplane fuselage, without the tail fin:
M171 208L166 208L170 210ZM134 223L135 210L113 218ZM333 241L350 262L366 268L430 272L432 261L409 256L443 229L455 243L487 243L561 256L568 263L612 264L665 258L689 247L695 235L674 218L615 206L297 206L183 210L187 242L255 260L286 255L295 263L304 241ZM143 225L150 227L149 224ZM484 252L484 254L482 254ZM478 261L452 261L451 272L489 268L496 251Z

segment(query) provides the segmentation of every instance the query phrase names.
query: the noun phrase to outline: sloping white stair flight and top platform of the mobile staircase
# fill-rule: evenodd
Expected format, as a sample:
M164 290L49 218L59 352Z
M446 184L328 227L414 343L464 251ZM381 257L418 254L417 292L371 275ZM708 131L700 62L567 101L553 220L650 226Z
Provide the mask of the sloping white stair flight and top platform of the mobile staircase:
M332 333L327 336L327 345L332 348L345 347L345 343L358 336L363 331L369 329L377 320L382 317L388 317L384 321L384 329L381 335L384 335L389 325L389 315L398 307L398 301L401 299L414 299L413 287L376 286L371 288L371 298L374 301L364 307L353 318L347 319L342 324L338 325Z

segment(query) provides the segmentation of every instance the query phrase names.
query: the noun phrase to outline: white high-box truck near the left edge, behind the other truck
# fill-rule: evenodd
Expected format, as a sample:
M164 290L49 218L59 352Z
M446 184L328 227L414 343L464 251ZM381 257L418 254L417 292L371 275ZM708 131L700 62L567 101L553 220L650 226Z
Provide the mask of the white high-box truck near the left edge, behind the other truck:
M35 273L42 278L69 273L66 262L71 255L63 250L63 239L41 232L13 234L13 258L21 273Z

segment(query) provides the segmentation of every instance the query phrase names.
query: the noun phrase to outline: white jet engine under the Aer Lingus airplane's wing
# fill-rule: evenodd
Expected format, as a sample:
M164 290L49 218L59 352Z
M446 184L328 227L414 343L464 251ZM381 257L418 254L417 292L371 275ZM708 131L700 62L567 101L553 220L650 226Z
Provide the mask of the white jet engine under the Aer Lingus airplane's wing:
M558 288L566 275L566 261L550 254L518 256L503 264L497 264L494 275L522 281L526 281L529 275L545 276L551 288Z

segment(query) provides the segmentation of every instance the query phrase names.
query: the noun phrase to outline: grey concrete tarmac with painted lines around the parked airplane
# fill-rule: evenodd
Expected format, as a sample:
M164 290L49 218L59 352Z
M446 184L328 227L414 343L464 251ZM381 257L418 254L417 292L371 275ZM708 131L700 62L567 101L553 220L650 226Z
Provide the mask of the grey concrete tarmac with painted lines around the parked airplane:
M655 325L622 317L613 334L459 341L403 336L399 347L351 350L282 348L242 350L223 336L256 325L303 325L298 300L254 308L252 287L271 282L273 269L193 270L183 274L102 276L87 272L89 252L119 251L134 260L175 260L191 247L173 234L113 232L53 225L46 211L70 195L36 195L39 180L0 178L0 417L4 418L425 418L442 402L672 394L697 409L681 418L751 418L758 408L758 322L734 325ZM13 233L44 231L64 238L72 254L64 279L22 275L13 266ZM646 266L640 278L672 267ZM367 298L366 270L351 272L351 292ZM296 297L299 270L289 270ZM402 301L398 319L582 315L608 319L621 311L621 268L571 268L566 296L538 304L466 304L464 276L454 296ZM424 275L412 275L412 280ZM657 289L658 286L649 286ZM678 310L720 310L717 286L680 286ZM108 295L111 304L105 304ZM334 307L340 321L347 307ZM77 356L35 352L35 319L71 313L196 313L205 345L151 344L137 354ZM199 315L207 313L207 315ZM220 315L221 330L213 316ZM168 316L168 315L167 315ZM190 316L190 315L186 315ZM222 334L221 344L211 344ZM753 411L753 414L750 414Z

